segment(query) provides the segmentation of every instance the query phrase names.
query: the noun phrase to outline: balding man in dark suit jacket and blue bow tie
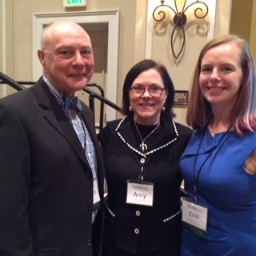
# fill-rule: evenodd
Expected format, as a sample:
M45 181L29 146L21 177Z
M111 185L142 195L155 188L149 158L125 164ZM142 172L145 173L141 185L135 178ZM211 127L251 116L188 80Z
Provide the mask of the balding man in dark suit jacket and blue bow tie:
M103 167L90 109L90 37L74 22L42 33L43 76L0 100L0 255L99 255Z

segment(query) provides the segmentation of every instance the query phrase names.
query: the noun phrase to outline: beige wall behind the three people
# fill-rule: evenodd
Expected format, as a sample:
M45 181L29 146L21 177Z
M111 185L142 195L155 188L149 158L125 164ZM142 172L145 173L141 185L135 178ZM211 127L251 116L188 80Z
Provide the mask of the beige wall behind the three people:
M0 0L0 5L2 1L6 2L6 30L8 30L6 38L6 74L18 81L31 81L32 79L33 14L70 12L73 10L120 10L118 105L121 105L122 83L127 71L135 62L146 56L147 0L86 1L86 8L74 8L73 10L65 10L62 0ZM155 2L157 5L158 1ZM231 0L217 0L214 34L229 32L231 2ZM255 16L254 14L254 24L256 23ZM2 18L2 8L0 8L0 18ZM254 37L255 34L254 31ZM0 38L0 68L2 68L1 26ZM170 55L168 40L168 36L157 37L154 35L152 57L166 64L176 90L189 90L194 65L199 50L206 42L206 37L190 36L186 41L186 55L182 58L182 62L178 64L173 61ZM9 88L8 92L10 90ZM185 123L186 107L178 107L175 112L178 114L176 121Z

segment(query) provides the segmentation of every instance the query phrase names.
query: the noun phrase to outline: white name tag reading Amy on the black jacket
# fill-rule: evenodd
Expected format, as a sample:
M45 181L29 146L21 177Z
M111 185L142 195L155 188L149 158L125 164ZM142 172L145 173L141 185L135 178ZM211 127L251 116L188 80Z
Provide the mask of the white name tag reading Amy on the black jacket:
M154 184L150 182L127 181L126 203L153 206Z

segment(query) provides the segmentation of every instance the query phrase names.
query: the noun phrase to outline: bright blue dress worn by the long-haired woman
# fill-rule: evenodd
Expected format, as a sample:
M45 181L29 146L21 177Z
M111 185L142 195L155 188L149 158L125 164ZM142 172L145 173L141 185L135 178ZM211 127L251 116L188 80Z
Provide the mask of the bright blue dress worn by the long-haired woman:
M182 256L256 255L256 175L244 170L255 148L254 133L213 138L209 130L194 131L180 167L189 198L198 176L198 204L208 208L208 221L203 238L183 226Z

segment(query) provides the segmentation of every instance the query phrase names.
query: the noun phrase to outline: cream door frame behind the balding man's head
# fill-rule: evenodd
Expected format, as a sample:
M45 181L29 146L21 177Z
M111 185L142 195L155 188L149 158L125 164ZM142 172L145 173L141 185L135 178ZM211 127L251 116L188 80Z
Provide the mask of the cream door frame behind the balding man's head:
M117 104L118 89L118 38L119 38L119 10L86 11L53 14L33 14L33 81L37 81L42 75L42 65L38 60L38 48L42 35L42 29L46 24L56 20L70 20L78 24L95 23L100 26L106 23L108 26L108 50L107 50L107 75L105 97ZM116 118L116 110L105 106L107 120Z

